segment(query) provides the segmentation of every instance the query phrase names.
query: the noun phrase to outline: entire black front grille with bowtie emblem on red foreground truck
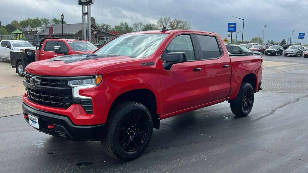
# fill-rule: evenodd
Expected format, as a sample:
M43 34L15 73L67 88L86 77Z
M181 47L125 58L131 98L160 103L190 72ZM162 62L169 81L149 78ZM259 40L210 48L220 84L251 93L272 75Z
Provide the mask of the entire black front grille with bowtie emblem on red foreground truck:
M31 78L40 80L40 82L31 85ZM92 99L73 98L71 87L67 85L68 80L63 80L60 77L53 79L53 77L25 74L25 82L27 83L25 84L27 97L34 103L64 109L69 108L72 104L80 104L87 114L93 114Z

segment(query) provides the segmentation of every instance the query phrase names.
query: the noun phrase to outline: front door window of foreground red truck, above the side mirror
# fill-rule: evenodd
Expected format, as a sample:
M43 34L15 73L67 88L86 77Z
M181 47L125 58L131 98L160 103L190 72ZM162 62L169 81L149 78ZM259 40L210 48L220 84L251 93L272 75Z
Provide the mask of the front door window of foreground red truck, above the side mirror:
M176 36L168 45L164 54L169 52L185 52L187 61L195 60L195 52L193 50L193 43L190 35ZM162 56L162 60L165 61L166 56Z

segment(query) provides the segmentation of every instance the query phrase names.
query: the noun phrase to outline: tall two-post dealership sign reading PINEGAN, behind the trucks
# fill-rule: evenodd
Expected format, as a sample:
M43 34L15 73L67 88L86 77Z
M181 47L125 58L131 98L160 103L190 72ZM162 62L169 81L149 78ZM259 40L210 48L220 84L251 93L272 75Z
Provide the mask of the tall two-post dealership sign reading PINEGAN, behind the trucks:
M82 39L87 39L91 42L91 4L94 4L95 0L78 0L78 5L82 6ZM87 8L87 12L86 12ZM86 15L88 18L88 32L86 32Z

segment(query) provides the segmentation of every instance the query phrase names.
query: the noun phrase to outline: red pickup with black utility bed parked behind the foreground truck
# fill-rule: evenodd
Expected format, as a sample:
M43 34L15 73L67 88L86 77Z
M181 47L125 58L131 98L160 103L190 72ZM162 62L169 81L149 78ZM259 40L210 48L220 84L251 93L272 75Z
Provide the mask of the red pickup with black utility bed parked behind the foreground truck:
M11 53L11 66L16 68L16 73L23 76L25 66L34 61L50 59L57 56L71 54L92 53L97 49L91 42L84 40L60 39L58 37L43 38L37 50ZM35 58L34 58L35 54Z

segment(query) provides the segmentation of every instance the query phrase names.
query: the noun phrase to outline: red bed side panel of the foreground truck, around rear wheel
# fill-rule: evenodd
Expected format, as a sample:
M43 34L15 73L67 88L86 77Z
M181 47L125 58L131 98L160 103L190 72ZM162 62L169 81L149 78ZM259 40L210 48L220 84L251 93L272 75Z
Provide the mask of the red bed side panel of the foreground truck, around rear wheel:
M231 90L228 99L235 99L240 90L241 82L247 74L254 74L256 77L257 91L259 82L262 79L262 58L260 55L234 56L231 60Z

